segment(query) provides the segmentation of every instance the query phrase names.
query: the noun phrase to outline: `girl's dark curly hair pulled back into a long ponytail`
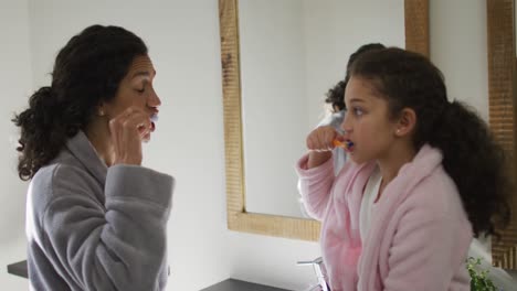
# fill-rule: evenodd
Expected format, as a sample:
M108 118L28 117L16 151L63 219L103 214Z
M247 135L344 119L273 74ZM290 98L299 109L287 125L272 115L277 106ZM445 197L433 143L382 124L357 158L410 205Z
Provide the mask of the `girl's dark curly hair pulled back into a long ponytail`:
M443 74L425 56L401 48L361 54L351 75L370 79L389 104L390 118L403 108L416 114L415 149L429 143L443 154L474 235L496 235L510 220L514 185L503 148L486 122L460 101L449 103Z

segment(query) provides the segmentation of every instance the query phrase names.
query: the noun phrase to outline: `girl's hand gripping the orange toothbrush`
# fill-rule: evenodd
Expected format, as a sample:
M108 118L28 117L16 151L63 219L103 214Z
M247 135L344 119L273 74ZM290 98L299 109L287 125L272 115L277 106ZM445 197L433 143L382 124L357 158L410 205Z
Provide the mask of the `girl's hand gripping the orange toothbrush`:
M335 139L341 140L342 137L330 126L318 127L310 131L306 141L309 150L308 169L318 166L333 157Z

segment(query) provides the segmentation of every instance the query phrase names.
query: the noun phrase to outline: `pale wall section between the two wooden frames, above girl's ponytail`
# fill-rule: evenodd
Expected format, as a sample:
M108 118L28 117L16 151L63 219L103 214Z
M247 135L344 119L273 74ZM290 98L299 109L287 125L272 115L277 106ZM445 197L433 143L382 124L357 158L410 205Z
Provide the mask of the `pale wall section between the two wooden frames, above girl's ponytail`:
M431 60L450 99L468 103L488 121L486 1L430 1L430 21Z

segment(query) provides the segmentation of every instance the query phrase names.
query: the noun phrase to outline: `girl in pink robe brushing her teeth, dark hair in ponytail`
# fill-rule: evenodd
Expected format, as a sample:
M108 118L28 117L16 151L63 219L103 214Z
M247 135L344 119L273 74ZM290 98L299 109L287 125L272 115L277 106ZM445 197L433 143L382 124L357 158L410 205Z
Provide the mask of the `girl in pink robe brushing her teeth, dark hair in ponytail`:
M345 134L313 130L297 164L330 289L469 290L473 235L509 222L502 148L420 54L367 52L350 75ZM349 144L336 177L335 140Z

